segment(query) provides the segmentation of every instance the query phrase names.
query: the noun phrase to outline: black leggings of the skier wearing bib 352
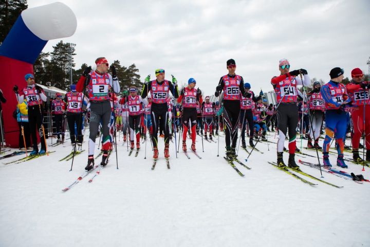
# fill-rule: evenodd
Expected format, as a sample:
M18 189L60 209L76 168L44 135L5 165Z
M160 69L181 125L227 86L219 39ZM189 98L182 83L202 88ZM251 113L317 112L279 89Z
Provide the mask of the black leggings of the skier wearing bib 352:
M157 144L158 144L159 126L163 130L163 133L164 133L164 143L169 144L170 143L170 132L169 132L169 126L168 126L169 115L168 115L167 103L162 103L162 104L152 103L151 110L152 110L151 118L152 118L152 126L153 126L153 134L152 134L153 146L157 147Z

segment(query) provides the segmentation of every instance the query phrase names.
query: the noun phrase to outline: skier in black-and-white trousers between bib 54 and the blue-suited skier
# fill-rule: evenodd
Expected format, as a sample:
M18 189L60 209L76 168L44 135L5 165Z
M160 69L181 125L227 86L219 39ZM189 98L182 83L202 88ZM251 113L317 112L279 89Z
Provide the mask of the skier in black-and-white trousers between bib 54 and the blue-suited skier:
M324 120L324 102L320 93L321 84L316 81L313 82L313 89L307 94L308 105L309 105L309 117L312 126L308 133L307 148L321 149L319 145L320 130ZM312 133L313 132L313 133ZM312 146L312 138L315 140L315 144Z

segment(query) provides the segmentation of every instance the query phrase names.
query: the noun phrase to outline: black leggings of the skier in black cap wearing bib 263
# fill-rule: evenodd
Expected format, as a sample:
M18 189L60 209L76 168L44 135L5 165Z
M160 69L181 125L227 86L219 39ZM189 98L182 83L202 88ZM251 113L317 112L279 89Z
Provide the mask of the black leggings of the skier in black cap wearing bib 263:
M226 125L226 147L235 148L237 140L237 126L240 118L239 100L224 100L224 120ZM231 139L230 139L231 138Z

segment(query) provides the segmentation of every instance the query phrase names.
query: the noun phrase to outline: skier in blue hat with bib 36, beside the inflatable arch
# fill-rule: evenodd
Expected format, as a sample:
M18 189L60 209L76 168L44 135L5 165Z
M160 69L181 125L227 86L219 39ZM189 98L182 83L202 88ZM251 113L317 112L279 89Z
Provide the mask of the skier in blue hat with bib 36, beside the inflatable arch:
M28 124L32 137L33 150L30 155L44 154L46 153L46 140L44 136L44 124L43 124L43 101L46 102L47 98L44 90L41 86L36 85L34 76L32 74L26 74L25 80L27 81L27 87L25 87L20 94L18 94L18 86L13 87L18 102L22 103L24 99L27 100L28 105ZM36 132L39 133L41 150L39 152Z

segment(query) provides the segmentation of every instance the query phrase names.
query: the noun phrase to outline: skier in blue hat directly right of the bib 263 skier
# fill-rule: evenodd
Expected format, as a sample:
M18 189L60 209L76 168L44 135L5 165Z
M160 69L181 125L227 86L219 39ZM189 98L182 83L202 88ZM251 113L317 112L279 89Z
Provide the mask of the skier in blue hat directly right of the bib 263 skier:
M241 95L241 101L240 101L240 105L241 105L241 123L242 123L242 147L243 148L246 148L246 143L245 143L245 130L247 128L247 121L248 121L248 126L249 126L249 146L251 147L254 147L254 144L253 144L253 112L252 112L252 107L253 107L253 104L254 102L257 102L258 100L261 99L262 95L261 93L263 93L261 91L260 95L258 97L255 97L254 96L254 93L253 91L251 91L251 85L246 82L244 83L244 89L246 91L246 96L247 97L243 97L243 95Z

